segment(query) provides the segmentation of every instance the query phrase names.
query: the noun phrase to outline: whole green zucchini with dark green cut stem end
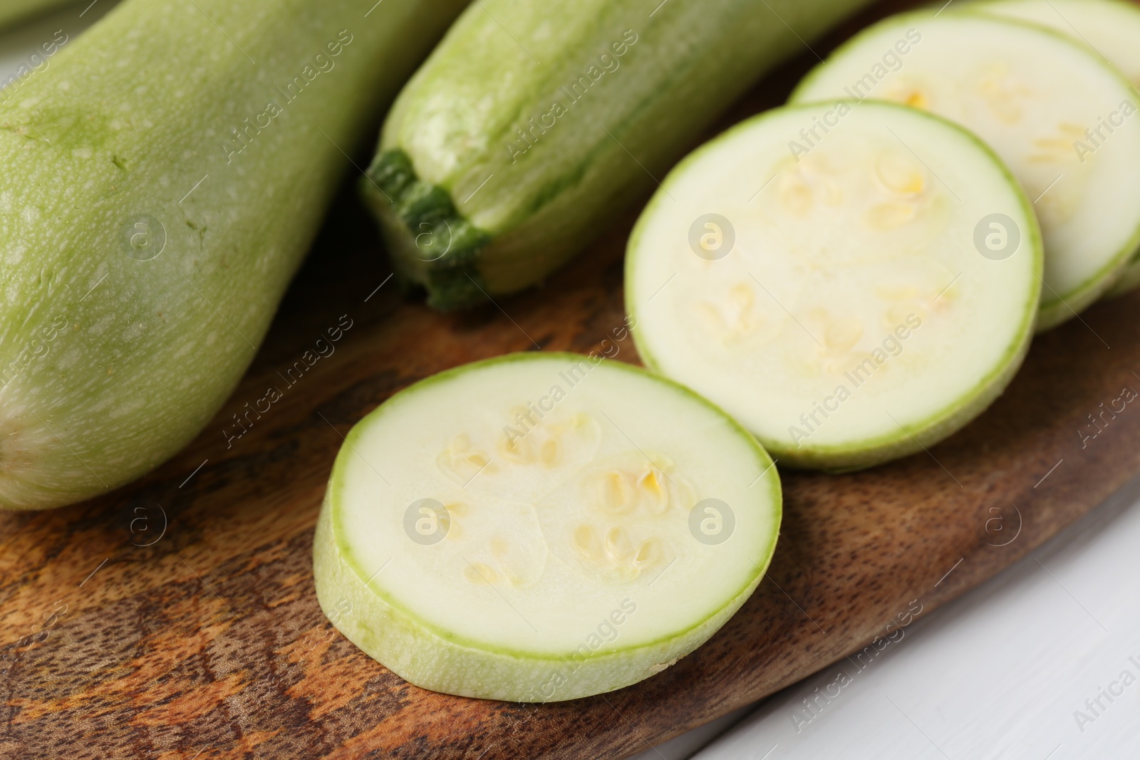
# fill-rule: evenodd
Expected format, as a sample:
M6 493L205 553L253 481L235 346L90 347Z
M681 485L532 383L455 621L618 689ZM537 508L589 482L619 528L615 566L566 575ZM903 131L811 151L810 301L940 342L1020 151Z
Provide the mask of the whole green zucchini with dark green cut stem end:
M443 310L542 281L760 74L863 5L472 5L400 93L360 183L397 269Z

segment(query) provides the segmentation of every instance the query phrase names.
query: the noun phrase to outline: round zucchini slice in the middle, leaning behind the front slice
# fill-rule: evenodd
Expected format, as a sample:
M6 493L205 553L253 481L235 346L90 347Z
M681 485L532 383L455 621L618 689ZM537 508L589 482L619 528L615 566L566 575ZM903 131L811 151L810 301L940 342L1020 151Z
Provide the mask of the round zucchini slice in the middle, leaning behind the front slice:
M1042 268L1028 201L976 138L901 106L842 107L771 111L697 150L626 259L646 363L777 461L826 469L920 451L988 406L1027 350ZM826 121L797 161L800 130ZM722 258L690 243L708 213L734 230ZM974 244L994 213L1020 231L1002 260Z

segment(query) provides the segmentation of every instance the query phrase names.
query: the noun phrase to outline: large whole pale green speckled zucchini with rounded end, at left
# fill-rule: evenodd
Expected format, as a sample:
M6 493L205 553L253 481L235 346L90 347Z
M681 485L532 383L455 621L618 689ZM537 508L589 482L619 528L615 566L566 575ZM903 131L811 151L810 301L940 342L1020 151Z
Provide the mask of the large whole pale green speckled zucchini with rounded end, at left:
M0 507L97 496L202 430L342 148L463 5L127 0L0 105Z

